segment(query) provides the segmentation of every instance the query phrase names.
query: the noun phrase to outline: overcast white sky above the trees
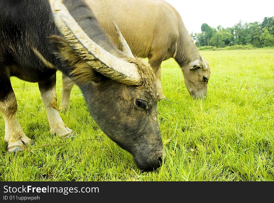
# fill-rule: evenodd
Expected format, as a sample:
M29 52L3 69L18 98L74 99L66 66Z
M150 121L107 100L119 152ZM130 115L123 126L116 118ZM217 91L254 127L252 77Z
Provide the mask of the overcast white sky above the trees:
M201 25L233 27L239 23L262 22L274 16L274 0L165 0L181 15L189 33L200 33Z

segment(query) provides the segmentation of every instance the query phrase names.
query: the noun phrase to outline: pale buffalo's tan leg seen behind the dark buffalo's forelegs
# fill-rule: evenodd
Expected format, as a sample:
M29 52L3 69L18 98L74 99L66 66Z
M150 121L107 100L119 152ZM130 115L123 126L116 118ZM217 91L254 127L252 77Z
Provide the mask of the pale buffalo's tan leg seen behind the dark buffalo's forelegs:
M69 97L70 97L70 92L73 87L73 82L71 79L66 76L65 74L62 74L62 96L61 96L61 102L59 106L60 111L65 111L69 107Z

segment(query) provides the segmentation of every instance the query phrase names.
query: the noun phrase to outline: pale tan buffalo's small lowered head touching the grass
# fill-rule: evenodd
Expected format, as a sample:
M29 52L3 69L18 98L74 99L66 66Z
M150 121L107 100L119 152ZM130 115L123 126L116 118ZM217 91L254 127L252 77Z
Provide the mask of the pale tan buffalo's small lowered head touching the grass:
M205 98L210 77L209 63L202 58L185 64L182 68L189 94L194 98Z

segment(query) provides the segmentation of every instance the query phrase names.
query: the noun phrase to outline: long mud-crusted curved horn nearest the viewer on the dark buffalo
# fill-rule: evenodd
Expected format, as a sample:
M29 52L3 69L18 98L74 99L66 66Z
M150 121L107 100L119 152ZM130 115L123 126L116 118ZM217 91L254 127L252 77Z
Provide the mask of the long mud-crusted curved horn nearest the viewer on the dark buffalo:
M62 0L49 2L59 31L87 64L117 82L126 85L141 84L141 77L135 64L117 58L92 41L70 15ZM100 64L96 63L96 60L100 60Z

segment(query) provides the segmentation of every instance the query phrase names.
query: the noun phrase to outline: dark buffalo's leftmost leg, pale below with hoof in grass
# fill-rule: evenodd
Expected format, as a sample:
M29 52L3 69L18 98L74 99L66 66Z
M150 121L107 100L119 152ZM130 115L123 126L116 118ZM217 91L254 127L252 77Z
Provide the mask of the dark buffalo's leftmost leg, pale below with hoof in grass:
M9 78L0 78L0 82L0 111L5 121L4 140L7 143L7 150L8 152L21 151L24 144L32 145L33 142L25 135L16 118L17 101Z

